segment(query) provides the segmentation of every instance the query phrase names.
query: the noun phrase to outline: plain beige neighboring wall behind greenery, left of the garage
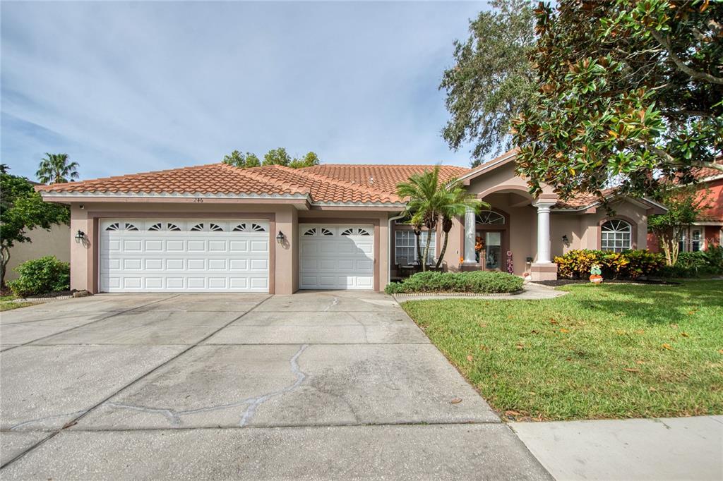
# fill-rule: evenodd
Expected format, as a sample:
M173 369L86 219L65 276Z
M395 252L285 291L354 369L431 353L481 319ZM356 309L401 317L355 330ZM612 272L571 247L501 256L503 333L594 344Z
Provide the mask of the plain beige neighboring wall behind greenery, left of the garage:
M70 262L70 226L53 225L50 230L33 229L27 233L31 242L16 243L10 250L5 280L17 279L15 267L25 261L44 256L56 256L63 262Z

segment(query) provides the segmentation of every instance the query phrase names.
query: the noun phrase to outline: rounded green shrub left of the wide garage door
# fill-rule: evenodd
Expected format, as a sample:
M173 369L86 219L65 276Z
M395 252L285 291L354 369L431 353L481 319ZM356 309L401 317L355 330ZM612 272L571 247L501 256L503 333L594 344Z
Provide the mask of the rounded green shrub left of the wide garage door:
M8 282L14 295L27 298L70 288L70 264L55 256L25 261L15 268L17 280Z

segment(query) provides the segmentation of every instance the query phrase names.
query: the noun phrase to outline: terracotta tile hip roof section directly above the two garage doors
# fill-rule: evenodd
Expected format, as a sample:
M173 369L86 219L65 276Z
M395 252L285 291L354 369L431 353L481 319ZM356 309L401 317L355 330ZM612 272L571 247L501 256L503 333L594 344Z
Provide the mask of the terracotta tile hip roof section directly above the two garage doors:
M38 186L36 189L79 194L308 195L312 202L401 202L398 196L387 191L281 165L241 169L218 163L90 181L56 183L51 186Z

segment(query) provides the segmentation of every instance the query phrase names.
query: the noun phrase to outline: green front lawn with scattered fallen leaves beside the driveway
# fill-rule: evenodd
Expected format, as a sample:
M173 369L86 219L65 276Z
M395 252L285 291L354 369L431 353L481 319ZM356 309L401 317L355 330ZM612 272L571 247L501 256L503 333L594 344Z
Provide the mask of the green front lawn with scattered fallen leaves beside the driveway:
M723 281L561 289L552 300L403 307L508 417L723 413Z

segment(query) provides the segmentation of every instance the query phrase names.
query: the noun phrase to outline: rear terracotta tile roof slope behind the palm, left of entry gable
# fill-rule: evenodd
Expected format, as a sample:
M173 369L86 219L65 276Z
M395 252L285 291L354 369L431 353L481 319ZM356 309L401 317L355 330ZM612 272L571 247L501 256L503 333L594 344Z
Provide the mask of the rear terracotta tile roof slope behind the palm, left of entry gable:
M321 164L301 170L394 194L398 183L406 181L412 174L424 173L434 167L434 165ZM467 172L469 172L467 168L442 165L440 180L448 181Z

